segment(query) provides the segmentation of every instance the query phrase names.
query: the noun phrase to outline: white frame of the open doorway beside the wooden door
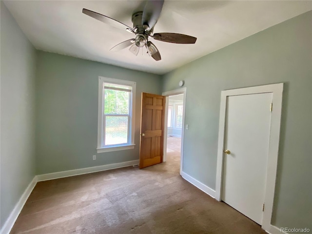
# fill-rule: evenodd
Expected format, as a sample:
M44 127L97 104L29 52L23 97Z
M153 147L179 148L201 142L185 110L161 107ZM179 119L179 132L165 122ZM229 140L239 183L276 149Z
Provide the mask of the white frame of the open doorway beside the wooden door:
M186 102L186 87L175 89L172 91L163 92L162 96L166 96L166 108L165 108L165 121L164 121L164 150L163 150L163 162L167 160L167 137L168 137L168 105L169 96L183 94L183 113L182 113L182 131L181 131L181 153L180 153L180 175L183 169L183 142L184 142L184 124L185 124L185 102Z

